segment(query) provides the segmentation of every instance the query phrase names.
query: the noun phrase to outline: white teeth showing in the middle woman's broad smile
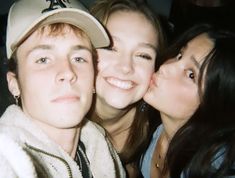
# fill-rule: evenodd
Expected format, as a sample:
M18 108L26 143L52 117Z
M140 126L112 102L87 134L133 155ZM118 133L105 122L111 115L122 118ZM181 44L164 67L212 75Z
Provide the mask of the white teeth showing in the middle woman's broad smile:
M112 86L115 86L120 89L129 90L133 88L136 84L130 80L121 80L114 77L106 77L105 81Z

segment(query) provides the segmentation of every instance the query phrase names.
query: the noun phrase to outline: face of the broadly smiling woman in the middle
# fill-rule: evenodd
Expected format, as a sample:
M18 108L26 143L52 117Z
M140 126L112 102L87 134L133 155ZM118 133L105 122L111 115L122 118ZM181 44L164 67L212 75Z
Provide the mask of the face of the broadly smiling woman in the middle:
M127 108L147 91L154 72L157 36L149 21L135 12L113 13L106 28L113 46L98 50L96 108L102 119L112 119L112 111Z

